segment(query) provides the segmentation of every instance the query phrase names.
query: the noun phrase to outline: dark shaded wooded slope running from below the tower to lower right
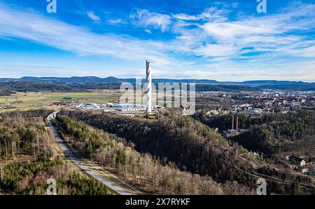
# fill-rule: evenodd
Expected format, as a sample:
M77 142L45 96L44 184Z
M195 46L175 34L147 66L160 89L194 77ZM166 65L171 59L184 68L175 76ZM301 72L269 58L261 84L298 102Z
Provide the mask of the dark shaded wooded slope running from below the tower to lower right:
M208 126L189 116L169 113L162 119L128 118L111 114L64 111L63 115L78 119L108 133L123 137L141 153L174 162L176 167L216 182L235 181L255 187L260 176L274 178L270 193L291 194L292 184L300 182L301 192L314 193L314 180L298 173L277 168L253 155L241 145L225 140ZM270 177L272 176L272 177Z

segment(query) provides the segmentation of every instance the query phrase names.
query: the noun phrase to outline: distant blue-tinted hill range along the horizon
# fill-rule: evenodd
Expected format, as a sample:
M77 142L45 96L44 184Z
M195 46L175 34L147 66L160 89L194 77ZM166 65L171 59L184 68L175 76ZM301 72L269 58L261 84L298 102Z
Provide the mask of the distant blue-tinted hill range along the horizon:
M13 82L13 83L11 83ZM118 84L123 82L135 83L136 79L118 79L110 76L107 78L99 78L97 76L73 76L73 77L32 77L26 76L20 79L4 78L0 79L0 86L27 86L31 83L54 83L69 86L69 88L104 88L111 86L117 88ZM141 80L145 83L145 80ZM3 85L4 83L8 85ZM258 80L258 81L243 81L243 82L231 82L231 81L216 81L209 79L153 79L153 83L196 83L197 86L201 85L203 88L211 90L225 89L232 90L258 90L258 89L279 89L279 90L315 90L315 83L307 83L302 81L276 81L276 80ZM13 84L13 85L10 85ZM209 86L207 86L209 85ZM43 86L43 84L41 84ZM62 88L67 88L62 86ZM199 88L201 88L201 86ZM50 87L57 86L51 85ZM197 87L198 89L198 87Z

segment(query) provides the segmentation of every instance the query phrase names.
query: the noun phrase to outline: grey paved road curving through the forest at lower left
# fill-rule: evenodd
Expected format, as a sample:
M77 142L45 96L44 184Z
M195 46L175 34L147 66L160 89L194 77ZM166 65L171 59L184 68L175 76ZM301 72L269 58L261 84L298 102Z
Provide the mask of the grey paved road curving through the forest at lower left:
M111 182L110 180L106 179L104 176L100 175L97 173L97 171L93 170L90 168L90 166L87 166L83 161L80 161L76 156L73 155L73 152L69 147L66 146L64 141L59 137L59 134L57 133L57 130L55 129L55 126L52 124L51 119L52 117L57 114L58 112L53 112L47 117L48 124L52 130L52 133L55 135L55 140L61 147L62 151L64 151L64 154L73 161L73 163L76 163L82 170L84 170L86 173L94 177L95 179L99 180L99 182L102 182L105 184L107 187L111 188L113 191L116 191L118 194L123 194L123 195L132 195L130 191L127 191L123 187L120 187L118 184Z

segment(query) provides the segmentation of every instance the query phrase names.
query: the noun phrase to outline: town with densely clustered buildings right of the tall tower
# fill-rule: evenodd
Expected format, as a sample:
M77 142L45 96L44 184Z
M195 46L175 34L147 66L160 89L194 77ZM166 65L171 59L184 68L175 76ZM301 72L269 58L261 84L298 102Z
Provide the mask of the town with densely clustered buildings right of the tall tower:
M200 108L205 101L208 107L214 108L208 112L209 115L244 112L261 116L278 112L285 114L298 109L315 109L314 91L199 92L197 96Z

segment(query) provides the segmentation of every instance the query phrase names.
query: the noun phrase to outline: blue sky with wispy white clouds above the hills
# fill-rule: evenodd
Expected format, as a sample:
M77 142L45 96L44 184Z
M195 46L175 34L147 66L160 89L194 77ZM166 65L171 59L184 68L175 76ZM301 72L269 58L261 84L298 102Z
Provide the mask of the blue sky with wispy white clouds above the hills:
M315 1L0 0L0 77L315 81Z

